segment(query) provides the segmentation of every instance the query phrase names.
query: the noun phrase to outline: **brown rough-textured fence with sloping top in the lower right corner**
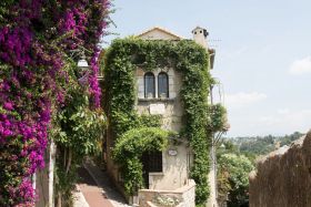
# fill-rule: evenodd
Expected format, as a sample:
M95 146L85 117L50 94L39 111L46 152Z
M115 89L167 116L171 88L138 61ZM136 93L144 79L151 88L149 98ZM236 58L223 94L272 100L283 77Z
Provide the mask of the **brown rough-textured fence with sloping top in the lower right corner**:
M250 174L250 207L311 206L311 131L258 162Z

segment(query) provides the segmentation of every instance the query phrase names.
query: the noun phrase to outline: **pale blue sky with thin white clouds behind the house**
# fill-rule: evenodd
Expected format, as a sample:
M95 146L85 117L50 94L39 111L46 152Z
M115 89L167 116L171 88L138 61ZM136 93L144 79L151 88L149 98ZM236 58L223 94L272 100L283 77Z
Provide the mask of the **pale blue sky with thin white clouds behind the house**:
M311 128L310 0L113 0L106 37L159 25L191 39L205 28L217 51L212 75L228 110L227 136L284 135ZM214 93L218 94L218 93Z

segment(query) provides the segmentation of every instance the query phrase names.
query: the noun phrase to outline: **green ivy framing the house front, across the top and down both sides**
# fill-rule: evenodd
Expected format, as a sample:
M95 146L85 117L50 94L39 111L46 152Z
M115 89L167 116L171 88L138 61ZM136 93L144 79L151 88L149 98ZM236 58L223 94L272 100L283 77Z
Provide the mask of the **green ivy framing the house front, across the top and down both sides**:
M139 118L134 110L137 99L136 69L139 66L144 71L152 71L165 66L182 73L180 95L184 106L184 127L180 132L180 137L187 137L193 149L194 161L191 177L197 183L195 203L198 205L204 204L209 197L208 148L212 133L220 127L217 125L217 128L211 128L213 127L213 118L217 118L218 115L211 114L211 107L208 107L209 86L213 83L213 79L209 73L207 50L190 40L150 41L131 37L114 40L108 49L103 62L106 113L111 133L116 136L114 159L123 168L127 168L123 170L126 173L123 177L128 193L133 193L132 190L142 186L140 147L149 149L148 147L153 147L149 145L154 144L153 142L160 138L161 142L154 147L161 149L165 146L164 137L167 137L164 132L158 132L156 128L152 131L151 128L137 128ZM144 138L144 136L147 137ZM129 145L124 143L132 141L138 143L133 142L130 145L129 153L127 148ZM139 180L137 180L138 178ZM133 184L136 186L132 186Z

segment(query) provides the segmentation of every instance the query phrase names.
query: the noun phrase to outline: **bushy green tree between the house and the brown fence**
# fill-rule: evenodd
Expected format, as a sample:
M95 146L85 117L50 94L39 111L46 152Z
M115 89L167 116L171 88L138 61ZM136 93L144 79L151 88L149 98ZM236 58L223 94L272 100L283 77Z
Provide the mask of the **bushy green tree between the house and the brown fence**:
M229 207L248 201L249 173L254 169L244 155L223 154L218 159L218 185L220 198L229 194Z

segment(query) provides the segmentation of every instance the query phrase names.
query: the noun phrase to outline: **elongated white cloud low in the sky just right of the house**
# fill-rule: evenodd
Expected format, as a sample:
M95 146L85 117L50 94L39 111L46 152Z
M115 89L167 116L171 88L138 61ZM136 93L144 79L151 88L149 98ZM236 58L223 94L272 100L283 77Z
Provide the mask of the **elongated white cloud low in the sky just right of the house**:
M259 92L239 92L235 94L225 94L225 105L229 107L244 106L267 99L267 94Z

